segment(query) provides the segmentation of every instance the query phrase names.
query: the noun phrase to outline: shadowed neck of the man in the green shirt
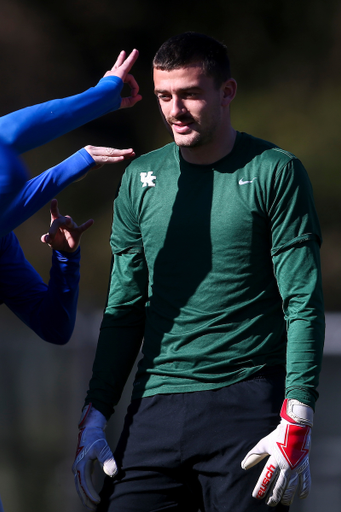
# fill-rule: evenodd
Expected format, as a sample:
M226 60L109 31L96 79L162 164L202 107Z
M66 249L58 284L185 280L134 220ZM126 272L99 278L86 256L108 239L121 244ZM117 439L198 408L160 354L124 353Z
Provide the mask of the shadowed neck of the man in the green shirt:
M180 147L181 156L186 162L197 165L209 165L231 153L237 132L230 126L223 140L216 140L197 147Z

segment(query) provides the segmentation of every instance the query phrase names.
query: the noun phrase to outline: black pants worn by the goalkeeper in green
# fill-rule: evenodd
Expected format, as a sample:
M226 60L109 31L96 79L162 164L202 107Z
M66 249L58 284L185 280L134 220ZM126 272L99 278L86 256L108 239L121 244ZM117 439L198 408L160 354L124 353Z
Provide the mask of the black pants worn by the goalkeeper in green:
M214 391L133 400L98 512L265 512L252 498L265 462L241 468L246 453L276 428L284 370Z

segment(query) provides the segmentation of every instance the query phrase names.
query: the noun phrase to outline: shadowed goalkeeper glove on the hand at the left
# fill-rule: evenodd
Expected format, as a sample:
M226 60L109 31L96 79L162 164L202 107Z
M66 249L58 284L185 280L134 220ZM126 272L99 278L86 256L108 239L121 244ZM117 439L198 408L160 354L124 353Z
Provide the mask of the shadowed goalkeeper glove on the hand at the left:
M84 408L78 424L78 446L72 472L77 493L83 505L90 510L95 510L101 501L91 480L95 461L98 460L107 475L117 473L116 462L104 433L106 425L106 418L91 404Z

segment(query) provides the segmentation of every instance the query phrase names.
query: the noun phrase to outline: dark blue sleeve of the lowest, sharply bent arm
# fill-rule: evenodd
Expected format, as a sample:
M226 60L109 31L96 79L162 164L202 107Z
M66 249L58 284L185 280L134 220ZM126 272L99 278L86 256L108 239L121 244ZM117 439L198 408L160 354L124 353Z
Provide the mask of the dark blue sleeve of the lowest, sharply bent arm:
M53 251L48 286L26 260L14 235L0 239L0 302L43 340L63 345L70 339L77 310L80 249Z

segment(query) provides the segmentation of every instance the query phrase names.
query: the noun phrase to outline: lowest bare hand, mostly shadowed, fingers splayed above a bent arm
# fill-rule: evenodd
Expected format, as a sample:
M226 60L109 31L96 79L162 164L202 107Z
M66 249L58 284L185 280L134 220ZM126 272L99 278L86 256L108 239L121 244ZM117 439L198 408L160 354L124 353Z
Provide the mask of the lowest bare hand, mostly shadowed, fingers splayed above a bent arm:
M50 212L49 232L42 235L40 240L57 251L74 252L79 246L82 234L92 226L94 221L91 219L77 226L69 215L65 217L60 215L57 199L52 199Z

